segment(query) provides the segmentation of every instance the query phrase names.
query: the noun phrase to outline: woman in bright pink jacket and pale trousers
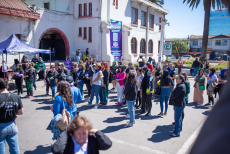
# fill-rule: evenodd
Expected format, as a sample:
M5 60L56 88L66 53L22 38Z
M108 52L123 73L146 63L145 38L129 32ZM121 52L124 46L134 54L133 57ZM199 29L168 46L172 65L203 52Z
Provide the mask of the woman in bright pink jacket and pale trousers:
M125 85L125 66L121 65L119 66L119 72L115 75L116 79L116 88L117 88L117 99L118 102L116 103L117 106L121 106L122 97L123 97L123 91L124 91L124 85Z

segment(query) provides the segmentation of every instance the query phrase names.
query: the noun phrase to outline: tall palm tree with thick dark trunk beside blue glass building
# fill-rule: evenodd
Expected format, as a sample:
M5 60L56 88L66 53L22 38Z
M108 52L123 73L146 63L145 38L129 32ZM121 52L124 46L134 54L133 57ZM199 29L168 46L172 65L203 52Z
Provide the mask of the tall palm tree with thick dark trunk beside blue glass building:
M192 7L192 10L194 7L198 7L200 4L200 0L183 0L183 3L187 2L189 4L189 7ZM221 0L203 0L204 5L204 31L203 31L203 41L202 41L202 52L200 61L204 62L207 61L206 55L207 55L207 45L208 45L208 32L209 32L209 21L210 21L210 11L211 6L213 9L215 9L217 5L217 9L221 9L222 2Z

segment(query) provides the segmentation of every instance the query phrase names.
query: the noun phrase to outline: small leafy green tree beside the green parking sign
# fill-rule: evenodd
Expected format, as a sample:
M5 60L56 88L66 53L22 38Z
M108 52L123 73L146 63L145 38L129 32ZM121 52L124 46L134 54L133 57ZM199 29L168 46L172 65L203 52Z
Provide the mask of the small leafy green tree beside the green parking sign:
M188 51L190 50L190 46L188 42L185 40L173 40L172 41L172 52L177 53L178 58L180 57L181 51Z

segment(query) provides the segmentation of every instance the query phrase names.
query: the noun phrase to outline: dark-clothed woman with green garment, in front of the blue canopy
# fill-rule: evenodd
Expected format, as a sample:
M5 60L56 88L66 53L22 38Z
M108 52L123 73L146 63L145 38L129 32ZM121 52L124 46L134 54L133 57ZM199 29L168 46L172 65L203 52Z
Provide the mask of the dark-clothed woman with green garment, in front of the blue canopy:
M34 68L29 64L28 71L26 72L26 88L27 88L27 97L33 97L33 82L34 82Z

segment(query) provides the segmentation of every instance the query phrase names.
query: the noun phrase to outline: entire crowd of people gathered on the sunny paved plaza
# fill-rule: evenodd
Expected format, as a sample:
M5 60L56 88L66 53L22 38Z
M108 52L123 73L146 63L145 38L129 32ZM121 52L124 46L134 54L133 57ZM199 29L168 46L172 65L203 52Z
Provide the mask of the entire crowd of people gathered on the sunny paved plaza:
M139 61L140 59L141 61ZM160 110L157 116L166 116L168 105L173 105L175 112L173 124L175 124L175 129L172 131L171 136L179 137L185 115L184 108L189 103L190 93L188 75L181 69L183 62L181 59L177 62L178 74L175 72L175 65L167 60L164 61L162 67L151 57L147 62L143 57L139 57L137 62L138 64L130 62L126 66L122 61L114 61L109 67L107 62L99 63L91 56L86 57L85 62L78 59L76 63L72 63L71 68L63 63L59 63L59 61L55 61L55 65L51 65L50 69L46 69L41 57L38 58L35 55L29 63L24 55L21 63L15 60L13 78L15 79L19 96L23 94L22 84L25 81L27 97L33 97L33 89L36 90L37 88L37 74L38 80L44 80L47 95L49 95L49 89L51 90L52 95L50 99L54 103L50 109L54 117L48 128L53 133L53 139L57 140L52 147L53 153L59 153L68 147L73 148L73 144L82 147L87 142L88 146L93 146L94 141L92 140L97 140L98 138L106 140L106 143L104 142L104 145L100 146L101 149L108 149L112 145L111 141L102 132L92 129L88 120L79 116L77 102L82 101L84 98L84 84L87 88L86 99L84 100L88 102L85 105L86 107L93 105L94 96L96 97L95 109L100 105L106 106L109 103L109 93L117 93L116 105L127 105L128 114L125 118L130 120L125 124L126 127L132 127L135 124L135 112L137 110L140 110L140 115L151 116L152 99L153 97L159 97ZM197 103L197 105L203 104L203 93L207 90L209 100L207 105L214 105L214 94L220 93L223 84L227 82L228 70L221 70L221 74L217 77L215 68L210 68L209 64L206 63L206 70L203 70L203 66L201 67L200 63L198 66L197 62L196 59L193 63L195 71L193 102ZM2 89L3 93L8 93L6 90L7 84L3 82L3 80L0 80L0 89ZM110 83L112 84L112 89L109 90ZM13 96L20 100L19 96ZM7 95L4 99L8 99ZM19 107L15 110L15 115L13 116L16 116L19 111L21 114L23 112L21 111L22 103L18 101L18 104ZM4 104L1 103L0 105L1 110ZM1 114L2 112L0 117ZM67 117L69 126L66 126L65 129L60 129L58 123L63 120L63 116ZM7 122L13 122L15 117L11 119L13 120ZM6 119L0 119L0 123L3 122L7 123ZM8 126L6 125L5 127ZM85 133L85 138L79 138L78 133ZM91 137L88 134L95 135ZM66 142L66 146L60 147L60 145ZM93 142L92 145L90 142ZM68 153L68 151L72 152L72 148L65 153ZM96 149L100 150L100 148ZM12 150L11 147L10 150Z

